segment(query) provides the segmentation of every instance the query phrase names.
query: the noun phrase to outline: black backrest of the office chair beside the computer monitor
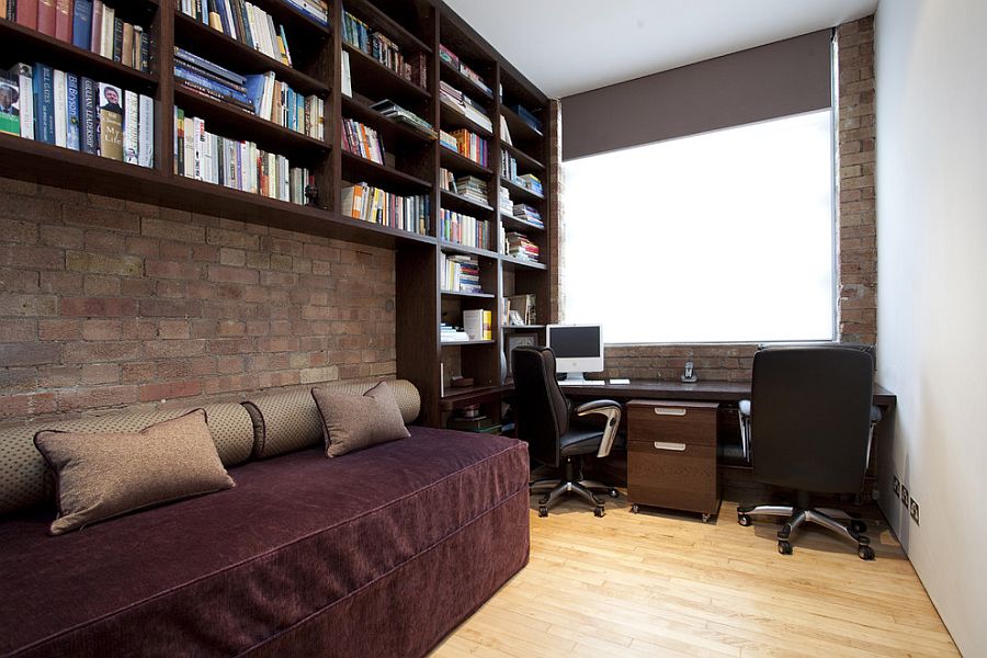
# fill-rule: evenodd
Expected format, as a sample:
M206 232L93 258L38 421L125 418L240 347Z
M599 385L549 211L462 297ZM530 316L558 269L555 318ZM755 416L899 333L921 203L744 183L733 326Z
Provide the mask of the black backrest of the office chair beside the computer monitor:
M569 406L555 378L555 353L524 345L511 352L518 438L531 456L558 466L559 439L569 431Z

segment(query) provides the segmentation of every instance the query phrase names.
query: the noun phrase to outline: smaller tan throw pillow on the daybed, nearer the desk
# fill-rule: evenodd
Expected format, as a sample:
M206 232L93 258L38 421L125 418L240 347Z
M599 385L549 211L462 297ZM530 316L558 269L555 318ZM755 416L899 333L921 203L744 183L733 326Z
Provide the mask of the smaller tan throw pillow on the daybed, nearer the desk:
M327 457L338 457L376 443L411 435L401 419L394 393L385 382L363 395L313 388L311 397L322 417Z

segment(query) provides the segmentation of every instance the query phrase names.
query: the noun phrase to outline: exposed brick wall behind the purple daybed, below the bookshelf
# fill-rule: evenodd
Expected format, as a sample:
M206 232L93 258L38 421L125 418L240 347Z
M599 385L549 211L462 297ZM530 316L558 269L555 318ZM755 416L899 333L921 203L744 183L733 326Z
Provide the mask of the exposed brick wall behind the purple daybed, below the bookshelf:
M394 253L0 179L0 422L396 372Z

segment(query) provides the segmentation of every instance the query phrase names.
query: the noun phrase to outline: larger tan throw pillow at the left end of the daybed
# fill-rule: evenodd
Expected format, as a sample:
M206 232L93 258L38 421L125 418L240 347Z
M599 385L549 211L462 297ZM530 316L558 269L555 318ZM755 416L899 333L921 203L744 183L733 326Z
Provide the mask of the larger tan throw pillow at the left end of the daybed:
M34 445L55 472L58 517L49 529L54 535L235 486L219 461L203 409L137 433L46 430L35 434Z

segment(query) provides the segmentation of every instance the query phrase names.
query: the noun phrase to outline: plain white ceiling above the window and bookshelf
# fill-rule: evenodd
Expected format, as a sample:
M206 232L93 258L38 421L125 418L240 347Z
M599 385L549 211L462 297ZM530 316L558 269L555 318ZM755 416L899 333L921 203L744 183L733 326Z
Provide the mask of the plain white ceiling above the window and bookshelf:
M832 27L877 0L445 0L551 98Z

